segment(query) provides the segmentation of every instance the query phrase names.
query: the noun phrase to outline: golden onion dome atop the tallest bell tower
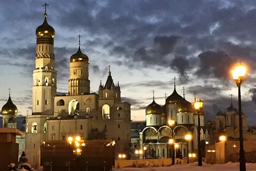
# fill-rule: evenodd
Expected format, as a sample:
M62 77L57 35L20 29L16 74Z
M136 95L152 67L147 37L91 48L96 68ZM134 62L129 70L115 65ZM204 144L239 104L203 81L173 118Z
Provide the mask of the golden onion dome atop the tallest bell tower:
M38 37L52 37L54 38L54 28L47 23L47 13L44 14L44 23L36 29L36 36Z

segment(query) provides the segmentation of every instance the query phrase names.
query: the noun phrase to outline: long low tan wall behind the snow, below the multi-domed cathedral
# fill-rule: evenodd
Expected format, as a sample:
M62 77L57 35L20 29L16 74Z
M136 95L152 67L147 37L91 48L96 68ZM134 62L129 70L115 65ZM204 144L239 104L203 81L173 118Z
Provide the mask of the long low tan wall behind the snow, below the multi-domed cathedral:
M184 164L184 160L175 158L175 164ZM115 160L115 168L123 167L166 167L172 165L172 158Z

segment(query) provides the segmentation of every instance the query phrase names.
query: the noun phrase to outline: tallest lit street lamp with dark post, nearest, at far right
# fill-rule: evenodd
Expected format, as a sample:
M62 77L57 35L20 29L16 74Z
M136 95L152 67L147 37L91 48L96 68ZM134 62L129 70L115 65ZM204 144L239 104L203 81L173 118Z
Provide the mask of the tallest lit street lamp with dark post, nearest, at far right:
M236 81L238 88L238 115L239 115L239 141L240 141L240 152L239 152L239 168L240 171L245 171L245 158L244 158L244 143L243 143L243 123L242 123L242 107L241 107L241 84L243 82L244 75L246 73L246 67L241 63L232 70L232 76Z

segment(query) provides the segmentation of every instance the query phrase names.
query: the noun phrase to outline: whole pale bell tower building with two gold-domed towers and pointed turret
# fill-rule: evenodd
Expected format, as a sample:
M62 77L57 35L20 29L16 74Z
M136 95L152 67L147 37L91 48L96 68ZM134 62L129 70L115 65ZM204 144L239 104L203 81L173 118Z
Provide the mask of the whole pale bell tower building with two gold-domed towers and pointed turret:
M36 29L35 70L33 71L33 109L26 119L26 156L40 167L40 145L45 140L66 140L80 135L90 139L90 131L104 132L104 139L115 140L116 154L125 152L131 142L131 104L122 102L118 84L109 69L106 84L99 94L90 92L89 58L81 52L70 57L68 93L56 95L57 72L54 56L55 31L47 23Z

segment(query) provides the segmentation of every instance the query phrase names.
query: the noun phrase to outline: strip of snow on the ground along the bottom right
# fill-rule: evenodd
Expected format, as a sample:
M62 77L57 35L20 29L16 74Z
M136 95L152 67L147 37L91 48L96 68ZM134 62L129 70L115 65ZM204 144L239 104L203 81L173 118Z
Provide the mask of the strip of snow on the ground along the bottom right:
M208 165L203 163L202 167L198 167L198 163L190 163L188 165L173 165L171 167L148 167L148 168L118 168L115 171L238 171L239 163L226 163L224 165ZM256 171L256 163L246 163L246 171Z

